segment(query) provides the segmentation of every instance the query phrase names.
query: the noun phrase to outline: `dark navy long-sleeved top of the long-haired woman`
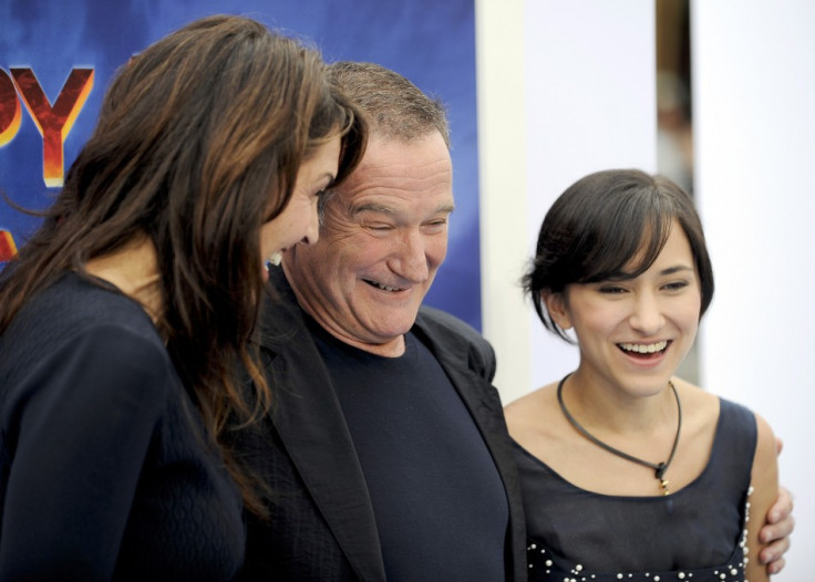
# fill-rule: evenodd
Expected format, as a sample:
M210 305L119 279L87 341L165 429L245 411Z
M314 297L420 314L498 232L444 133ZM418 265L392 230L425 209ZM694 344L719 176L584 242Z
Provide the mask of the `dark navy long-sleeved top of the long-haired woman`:
M228 580L241 502L144 310L63 277L0 337L0 580Z

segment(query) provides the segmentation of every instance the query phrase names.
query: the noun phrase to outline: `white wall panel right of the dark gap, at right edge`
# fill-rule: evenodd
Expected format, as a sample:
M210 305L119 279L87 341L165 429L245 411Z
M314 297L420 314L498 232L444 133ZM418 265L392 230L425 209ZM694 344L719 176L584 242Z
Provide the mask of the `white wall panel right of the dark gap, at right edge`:
M695 191L716 278L701 382L784 439L797 527L773 580L812 580L815 4L694 1L691 24Z

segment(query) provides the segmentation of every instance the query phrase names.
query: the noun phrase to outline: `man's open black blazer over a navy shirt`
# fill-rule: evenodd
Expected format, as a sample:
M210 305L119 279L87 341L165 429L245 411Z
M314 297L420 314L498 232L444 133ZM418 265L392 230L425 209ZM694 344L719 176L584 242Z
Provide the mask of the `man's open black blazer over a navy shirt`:
M270 517L249 518L244 579L383 581L373 509L340 403L282 269L272 269L271 285L278 297L264 305L259 341L272 410L240 447L270 486ZM420 310L413 332L439 358L501 472L509 507L507 580L525 580L523 503L491 384L493 349L431 308Z

